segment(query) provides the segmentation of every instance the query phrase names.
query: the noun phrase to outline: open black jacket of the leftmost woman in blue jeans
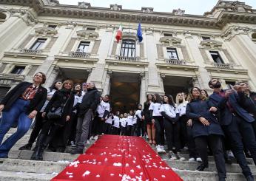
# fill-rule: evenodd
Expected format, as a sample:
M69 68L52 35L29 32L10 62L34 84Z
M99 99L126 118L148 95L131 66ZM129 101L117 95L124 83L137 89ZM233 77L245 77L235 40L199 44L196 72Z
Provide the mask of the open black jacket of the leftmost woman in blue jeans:
M7 95L4 96L4 99L1 100L0 104L4 104L4 112L7 112L10 110L10 108L13 106L13 103L21 97L21 95L24 93L24 91L31 86L32 83L30 82L21 82L18 83L17 86L15 86L13 89L10 90L10 92L7 93ZM45 89L42 86L38 87L38 91L36 92L35 97L30 100L30 104L27 107L26 114L30 114L30 112L33 112L33 110L36 110L40 112L41 108L44 106L44 102L47 99L47 89Z

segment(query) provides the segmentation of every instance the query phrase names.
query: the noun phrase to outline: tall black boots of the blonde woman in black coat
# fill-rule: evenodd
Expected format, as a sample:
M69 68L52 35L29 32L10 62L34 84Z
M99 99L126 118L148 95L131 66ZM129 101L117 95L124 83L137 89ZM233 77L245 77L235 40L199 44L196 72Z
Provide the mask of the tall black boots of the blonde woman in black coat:
M43 160L43 152L44 152L44 139L46 135L45 134L39 134L37 141L36 141L36 148L33 152L30 160Z

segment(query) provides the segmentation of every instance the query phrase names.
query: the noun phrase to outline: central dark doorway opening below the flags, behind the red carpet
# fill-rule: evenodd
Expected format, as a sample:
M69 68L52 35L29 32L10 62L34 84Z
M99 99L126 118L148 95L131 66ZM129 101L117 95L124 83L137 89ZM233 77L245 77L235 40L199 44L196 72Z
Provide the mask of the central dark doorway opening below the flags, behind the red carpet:
M138 74L113 72L110 86L112 111L122 113L137 108L141 81Z

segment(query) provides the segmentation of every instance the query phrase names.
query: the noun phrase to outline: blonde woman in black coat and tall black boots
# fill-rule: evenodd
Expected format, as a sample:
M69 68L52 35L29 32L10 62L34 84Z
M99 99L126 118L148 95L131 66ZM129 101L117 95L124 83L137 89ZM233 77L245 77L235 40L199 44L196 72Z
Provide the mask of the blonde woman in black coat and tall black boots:
M43 160L42 154L44 152L44 148L48 146L58 129L63 127L66 121L70 121L74 103L74 95L71 92L72 89L73 81L64 81L63 88L54 93L53 98L44 109L42 116L47 116L48 120L46 123L44 123L44 126L41 129L41 134L38 136L36 149L31 157L31 160ZM63 110L61 117L55 119L50 118L48 113L57 108L62 108Z

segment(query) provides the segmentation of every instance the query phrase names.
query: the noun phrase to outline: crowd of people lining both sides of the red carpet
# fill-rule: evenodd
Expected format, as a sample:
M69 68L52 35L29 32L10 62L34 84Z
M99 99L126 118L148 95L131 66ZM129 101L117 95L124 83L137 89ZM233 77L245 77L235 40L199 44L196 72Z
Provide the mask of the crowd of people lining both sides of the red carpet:
M28 143L33 147L31 160L43 160L47 151L81 154L89 140L101 134L145 137L159 154L171 160L185 160L181 150L189 151L189 162L199 162L198 171L208 168L212 154L219 180L226 180L225 163L235 157L246 180L254 180L246 157L256 164L256 94L240 82L223 90L218 79L209 81L213 90L193 87L189 93L146 95L144 105L129 112L112 112L110 95L101 96L93 82L56 81L49 89L41 86L46 76L38 72L33 83L22 82L0 103L0 157L7 158L13 145L26 134L35 118ZM2 143L10 127L17 132ZM166 146L166 147L165 147Z

